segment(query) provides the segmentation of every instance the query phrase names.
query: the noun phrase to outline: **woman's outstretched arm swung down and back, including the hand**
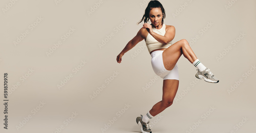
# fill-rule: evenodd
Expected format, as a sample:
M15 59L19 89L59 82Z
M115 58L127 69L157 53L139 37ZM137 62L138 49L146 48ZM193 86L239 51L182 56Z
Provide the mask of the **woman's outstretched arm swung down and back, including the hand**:
M122 61L122 56L124 55L124 53L126 53L127 51L131 50L136 44L138 44L140 41L142 41L144 39L144 37L142 36L142 30L143 28L141 28L137 35L130 40L126 46L124 47L124 49L120 52L120 54L116 57L116 61L118 63L121 63Z

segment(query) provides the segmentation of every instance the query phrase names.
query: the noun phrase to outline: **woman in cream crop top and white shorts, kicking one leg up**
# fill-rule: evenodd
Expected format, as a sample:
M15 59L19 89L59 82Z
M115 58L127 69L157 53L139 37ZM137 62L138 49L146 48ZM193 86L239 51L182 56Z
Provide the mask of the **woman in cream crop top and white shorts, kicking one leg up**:
M146 23L150 19L151 24ZM148 51L151 54L151 64L156 75L163 78L162 101L157 102L152 109L144 116L136 118L141 127L141 132L151 133L149 120L173 104L174 97L179 86L179 75L177 61L183 54L197 68L196 78L204 79L207 82L218 83L219 80L206 68L196 57L187 40L182 39L172 44L175 36L175 27L164 24L165 10L159 1L150 1L145 14L143 27L137 35L130 40L116 60L121 63L124 53L132 49L143 39L146 42ZM140 20L139 23L142 22ZM139 24L138 23L138 24Z

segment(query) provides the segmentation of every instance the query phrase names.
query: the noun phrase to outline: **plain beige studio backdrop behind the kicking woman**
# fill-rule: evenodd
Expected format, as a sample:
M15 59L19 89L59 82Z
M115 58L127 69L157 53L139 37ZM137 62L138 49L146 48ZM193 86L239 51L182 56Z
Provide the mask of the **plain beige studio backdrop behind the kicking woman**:
M102 1L89 15L88 11L99 2L63 0L56 4L53 0L23 0L10 4L12 6L7 11L3 9L11 2L0 2L3 8L0 13L0 99L5 99L3 75L6 72L11 91L7 98L8 130L3 128L2 102L0 132L100 133L104 124L108 124L114 117L116 121L104 132L140 132L135 119L140 114L146 114L162 99L163 79L157 76L158 79L150 88L143 91L142 88L156 76L147 48L140 50L145 45L144 40L125 53L121 64L116 62L116 56L142 27L143 22L139 25L136 23L142 18L149 1ZM180 57L180 81L175 99L179 95L183 95L183 98L174 101L172 106L161 112L161 119L157 119L157 116L153 118L152 131L184 133L201 120L202 123L192 132L256 132L256 71L252 71L246 79L243 77L245 72L250 73L251 65L256 65L256 1L238 0L228 10L225 5L231 0L160 2L166 11L164 23L176 28L173 42L181 39L191 42L191 38L198 35L200 38L193 45L190 43L191 48L220 82L213 84L197 80L196 68L184 56ZM185 2L188 6L182 11L180 9L180 14L174 18L173 13ZM36 22L37 17L43 20L31 31L29 25ZM123 20L128 22L121 26ZM213 23L212 26L201 35L199 30L206 27L208 22ZM115 27L119 25L122 28L116 33ZM72 27L76 30L63 41L61 36ZM17 37L26 30L29 34L15 46L13 41L17 41ZM102 39L111 33L114 36L100 48ZM233 46L231 42L240 33L246 35ZM62 44L47 56L46 52L58 41ZM228 46L232 49L217 61L216 57ZM135 51L140 53L132 58ZM81 61L87 63L79 67L80 70L75 74L72 69L78 67ZM31 68L34 71L28 75ZM111 77L114 71L119 74ZM73 77L59 90L57 85L70 74ZM22 76L29 77L23 80L20 78ZM105 82L108 78L111 79L109 83ZM243 82L237 87L235 82L239 79ZM20 85L12 91L11 88L17 82ZM90 95L102 85L105 88L91 100ZM229 95L227 90L231 89L231 85L237 88ZM187 87L191 90L184 95ZM45 102L45 105L40 105L40 101ZM124 108L125 104L130 107ZM209 116L204 120L201 115L207 113L212 106L216 109L210 114L208 112ZM38 109L36 113L31 112L34 108ZM118 111L124 113L119 115ZM78 115L72 118L72 112ZM32 117L25 122L24 117L28 115ZM242 123L243 117L248 119L245 123ZM68 118L72 121L66 125L63 122ZM25 124L17 130L22 121ZM236 124L242 126L235 128ZM60 131L61 125L64 128Z

